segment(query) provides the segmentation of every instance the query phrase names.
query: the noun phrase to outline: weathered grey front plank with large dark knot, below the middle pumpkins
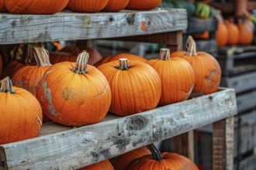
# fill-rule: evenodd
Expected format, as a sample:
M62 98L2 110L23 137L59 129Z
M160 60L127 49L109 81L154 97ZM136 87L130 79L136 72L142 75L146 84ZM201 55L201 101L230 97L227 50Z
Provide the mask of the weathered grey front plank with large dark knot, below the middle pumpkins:
M220 90L129 117L1 145L0 169L81 168L234 114L234 90Z

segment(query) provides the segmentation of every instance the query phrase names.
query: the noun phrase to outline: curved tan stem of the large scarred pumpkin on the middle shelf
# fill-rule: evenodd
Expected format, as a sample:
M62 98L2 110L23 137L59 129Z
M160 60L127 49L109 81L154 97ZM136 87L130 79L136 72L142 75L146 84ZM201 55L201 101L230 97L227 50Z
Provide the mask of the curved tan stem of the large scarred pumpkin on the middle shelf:
M79 74L88 73L88 71L86 71L88 59L89 59L89 53L87 53L86 51L83 51L82 53L80 53L78 55L77 62L74 68L72 69L74 73L79 73Z

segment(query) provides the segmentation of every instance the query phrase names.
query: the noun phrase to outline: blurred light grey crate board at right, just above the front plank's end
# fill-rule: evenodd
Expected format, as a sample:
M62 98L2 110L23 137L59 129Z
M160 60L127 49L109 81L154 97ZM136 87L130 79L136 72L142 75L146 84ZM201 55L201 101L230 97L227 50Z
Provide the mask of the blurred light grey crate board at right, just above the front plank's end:
M238 76L223 76L221 87L234 88L236 93L256 89L256 72L244 73Z

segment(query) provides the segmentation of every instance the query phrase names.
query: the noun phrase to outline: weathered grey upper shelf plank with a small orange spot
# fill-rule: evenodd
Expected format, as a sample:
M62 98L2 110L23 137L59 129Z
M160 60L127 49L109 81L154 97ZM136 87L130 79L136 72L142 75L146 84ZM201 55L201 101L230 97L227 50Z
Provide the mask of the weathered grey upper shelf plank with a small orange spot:
M54 15L0 15L0 44L57 40L104 39L185 30L185 9L76 13Z

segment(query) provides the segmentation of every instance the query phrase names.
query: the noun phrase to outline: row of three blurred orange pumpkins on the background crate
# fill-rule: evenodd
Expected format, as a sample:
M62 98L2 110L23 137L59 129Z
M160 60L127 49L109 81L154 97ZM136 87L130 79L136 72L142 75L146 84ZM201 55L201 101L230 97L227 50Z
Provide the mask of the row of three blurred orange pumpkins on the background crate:
M254 26L249 20L240 21L236 24L232 20L218 22L216 30L216 42L218 46L250 45L254 39Z

